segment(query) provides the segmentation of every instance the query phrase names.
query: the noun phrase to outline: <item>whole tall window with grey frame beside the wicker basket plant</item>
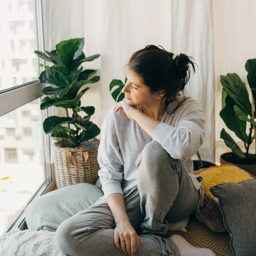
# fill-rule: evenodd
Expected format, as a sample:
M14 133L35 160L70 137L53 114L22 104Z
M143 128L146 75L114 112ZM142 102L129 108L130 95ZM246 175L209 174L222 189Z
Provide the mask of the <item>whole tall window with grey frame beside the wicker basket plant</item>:
M54 186L50 141L42 131L39 63L43 51L40 0L1 2L0 47L0 236L24 223L24 209ZM7 182L8 181L8 182Z

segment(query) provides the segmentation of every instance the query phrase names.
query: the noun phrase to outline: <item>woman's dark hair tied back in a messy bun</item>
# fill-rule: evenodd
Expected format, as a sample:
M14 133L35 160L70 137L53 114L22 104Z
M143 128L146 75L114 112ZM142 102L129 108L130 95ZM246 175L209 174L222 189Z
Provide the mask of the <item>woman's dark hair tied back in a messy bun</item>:
M190 77L194 63L186 54L180 53L173 60L174 54L155 45L148 45L136 51L127 64L131 70L142 77L143 83L150 88L151 93L164 92L166 106L176 99L178 92L184 90Z

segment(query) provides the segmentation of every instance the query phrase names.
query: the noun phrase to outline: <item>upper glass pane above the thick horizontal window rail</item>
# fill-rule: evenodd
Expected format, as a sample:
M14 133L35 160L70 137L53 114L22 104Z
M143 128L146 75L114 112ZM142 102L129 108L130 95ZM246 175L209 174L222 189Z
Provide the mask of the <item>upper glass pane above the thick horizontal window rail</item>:
M33 0L1 1L0 91L36 80L36 16Z

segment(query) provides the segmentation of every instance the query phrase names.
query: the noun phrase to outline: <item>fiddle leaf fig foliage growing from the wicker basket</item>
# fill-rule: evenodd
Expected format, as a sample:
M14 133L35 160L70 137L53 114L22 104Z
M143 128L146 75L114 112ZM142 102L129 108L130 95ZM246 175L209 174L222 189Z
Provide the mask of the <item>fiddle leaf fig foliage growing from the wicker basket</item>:
M40 74L40 82L50 84L42 90L45 97L41 101L41 110L55 106L64 108L66 112L66 117L46 118L44 132L51 134L55 140L69 141L73 147L80 146L81 142L100 133L98 126L90 121L95 108L81 106L81 97L89 90L89 87L82 88L83 85L96 83L100 77L93 76L97 70L83 70L80 67L85 61L99 58L100 54L85 57L83 47L84 38L75 38L61 41L56 45L56 50L51 52L35 51L40 58L53 63L52 66L41 65L45 71ZM68 109L71 110L71 116Z

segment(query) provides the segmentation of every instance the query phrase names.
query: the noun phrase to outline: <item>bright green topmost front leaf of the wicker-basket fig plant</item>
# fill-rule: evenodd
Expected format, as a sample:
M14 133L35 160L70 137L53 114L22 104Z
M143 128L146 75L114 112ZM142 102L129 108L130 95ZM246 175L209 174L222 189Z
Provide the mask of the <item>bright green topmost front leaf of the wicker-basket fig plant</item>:
M79 40L74 38L67 41L61 41L56 45L56 50L58 51L64 65L67 67L71 66L75 52L79 48L79 44Z

